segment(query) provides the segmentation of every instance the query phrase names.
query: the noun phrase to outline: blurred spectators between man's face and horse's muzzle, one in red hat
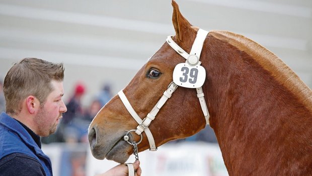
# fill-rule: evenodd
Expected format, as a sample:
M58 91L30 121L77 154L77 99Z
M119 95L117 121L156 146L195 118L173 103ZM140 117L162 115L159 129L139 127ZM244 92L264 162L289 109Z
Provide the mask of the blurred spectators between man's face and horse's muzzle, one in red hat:
M112 93L111 85L105 83L90 105L84 107L82 100L87 92L86 88L83 82L77 82L73 85L73 94L65 102L67 112L63 114L56 132L48 137L41 138L43 143L88 142L88 127L96 114L112 98Z

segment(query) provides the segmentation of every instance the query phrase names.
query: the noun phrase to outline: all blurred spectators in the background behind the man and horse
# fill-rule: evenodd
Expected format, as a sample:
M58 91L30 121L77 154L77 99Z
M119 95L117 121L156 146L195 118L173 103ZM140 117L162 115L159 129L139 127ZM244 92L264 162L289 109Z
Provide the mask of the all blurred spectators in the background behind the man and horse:
M0 112L5 111L6 107L2 87L3 82L0 80ZM48 137L42 137L41 141L46 144L51 142L88 142L88 127L96 114L112 98L113 95L111 91L111 85L105 83L90 105L83 107L82 99L87 93L86 85L82 82L74 84L73 95L71 95L69 100L65 102L67 112L63 114L63 118L61 119L56 132ZM171 143L178 143L181 141L217 142L214 132L209 125L191 137L172 141Z

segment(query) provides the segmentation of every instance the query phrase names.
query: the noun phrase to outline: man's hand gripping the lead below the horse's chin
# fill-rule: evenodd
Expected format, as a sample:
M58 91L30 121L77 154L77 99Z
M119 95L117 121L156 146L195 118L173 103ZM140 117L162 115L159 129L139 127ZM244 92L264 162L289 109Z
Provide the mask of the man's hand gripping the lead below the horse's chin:
M140 167L140 161L136 160L133 163L133 167L134 167L134 175L135 176L140 176L141 175L141 167ZM116 165L115 167L109 169L108 171L106 171L105 173L102 174L98 174L96 176L128 176L128 166L125 164L119 164Z

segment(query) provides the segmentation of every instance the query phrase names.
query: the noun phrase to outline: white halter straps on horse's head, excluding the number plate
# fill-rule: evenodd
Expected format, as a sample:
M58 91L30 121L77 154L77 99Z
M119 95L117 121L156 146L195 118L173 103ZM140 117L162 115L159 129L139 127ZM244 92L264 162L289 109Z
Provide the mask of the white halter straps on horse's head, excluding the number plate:
M171 36L168 36L166 41L175 51L177 51L181 56L183 56L186 59L186 63L190 65L200 65L201 64L201 62L199 61L200 53L201 53L202 46L207 35L208 35L207 31L202 30L202 29L198 30L190 54L188 54L176 42L174 42ZM161 97L161 99L157 102L157 104L153 107L153 109L147 114L147 116L143 120L141 120L141 118L136 114L136 112L132 108L131 104L129 103L128 99L126 98L122 90L118 93L119 98L121 99L122 103L124 104L128 112L131 114L134 120L139 124L136 127L136 130L133 130L133 131L135 131L137 135L141 135L141 133L145 131L145 134L149 142L149 147L150 147L149 150L151 151L156 151L157 147L155 146L154 138L148 126L151 123L151 121L155 119L155 116L157 115L157 113L160 111L160 109L163 107L166 101L171 97L173 92L175 92L177 87L178 85L176 83L171 82L168 85L168 89L164 92L164 95ZM209 113L208 113L207 105L205 102L204 93L201 87L196 88L196 91L197 91L197 97L199 99L201 109L206 119L206 124L209 124Z

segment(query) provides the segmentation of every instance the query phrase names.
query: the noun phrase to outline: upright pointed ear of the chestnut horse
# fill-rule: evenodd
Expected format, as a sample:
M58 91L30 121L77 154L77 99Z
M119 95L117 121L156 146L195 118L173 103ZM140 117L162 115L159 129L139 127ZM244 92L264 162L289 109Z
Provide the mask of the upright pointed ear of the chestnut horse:
M173 7L172 22L176 30L176 39L183 41L183 38L187 37L187 33L192 30L192 25L182 16L178 4L173 0L171 4Z

